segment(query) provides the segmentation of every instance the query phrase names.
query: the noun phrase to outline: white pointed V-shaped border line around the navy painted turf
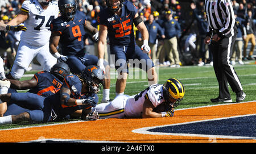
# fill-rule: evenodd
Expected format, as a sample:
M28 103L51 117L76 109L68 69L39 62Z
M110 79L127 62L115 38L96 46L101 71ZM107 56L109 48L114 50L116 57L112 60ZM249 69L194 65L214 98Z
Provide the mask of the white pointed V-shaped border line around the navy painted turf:
M160 127L167 127L167 126L178 126L183 124L190 124L190 123L199 123L199 122L209 122L213 120L222 120L222 119L230 119L230 118L238 118L244 116L252 116L256 114L247 114L247 115L238 115L238 116L230 116L225 118L216 118L216 119L208 119L208 120L197 120L193 122L185 122L185 123L176 123L176 124L167 124L163 126L154 126L154 127L144 127L133 130L132 132L138 134L149 134L149 135L174 135L174 136L193 136L193 137L204 137L204 138L225 138L225 139L253 139L256 140L254 137L247 137L247 136L231 136L231 135L208 135L208 134L183 134L183 133L168 133L168 132L150 132L152 128L160 128Z

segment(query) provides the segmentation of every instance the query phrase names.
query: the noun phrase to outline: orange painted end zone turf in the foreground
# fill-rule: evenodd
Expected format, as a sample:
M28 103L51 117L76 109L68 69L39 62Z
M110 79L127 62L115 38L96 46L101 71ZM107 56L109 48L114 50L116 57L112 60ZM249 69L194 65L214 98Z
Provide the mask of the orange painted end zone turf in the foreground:
M19 142L39 139L73 139L121 142L253 142L253 139L223 139L195 136L148 135L132 132L138 128L193 122L256 113L256 102L232 103L176 110L171 118L101 119L91 122L56 124L52 126L0 130L0 142Z

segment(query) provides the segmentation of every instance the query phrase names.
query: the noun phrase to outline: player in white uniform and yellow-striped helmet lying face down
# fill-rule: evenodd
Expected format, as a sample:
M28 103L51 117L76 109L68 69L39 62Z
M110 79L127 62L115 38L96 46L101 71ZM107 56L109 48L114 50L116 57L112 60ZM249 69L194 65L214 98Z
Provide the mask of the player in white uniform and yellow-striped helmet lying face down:
M103 118L160 118L174 115L185 94L183 84L169 78L163 85L149 86L133 96L118 95L112 102L92 108Z

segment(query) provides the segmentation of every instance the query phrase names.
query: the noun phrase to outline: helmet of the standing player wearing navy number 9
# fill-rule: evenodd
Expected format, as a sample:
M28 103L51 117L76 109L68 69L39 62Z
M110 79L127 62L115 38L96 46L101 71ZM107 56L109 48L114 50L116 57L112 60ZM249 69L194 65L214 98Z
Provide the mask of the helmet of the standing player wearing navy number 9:
M59 0L58 6L60 13L65 15L69 20L75 16L77 9L76 0Z

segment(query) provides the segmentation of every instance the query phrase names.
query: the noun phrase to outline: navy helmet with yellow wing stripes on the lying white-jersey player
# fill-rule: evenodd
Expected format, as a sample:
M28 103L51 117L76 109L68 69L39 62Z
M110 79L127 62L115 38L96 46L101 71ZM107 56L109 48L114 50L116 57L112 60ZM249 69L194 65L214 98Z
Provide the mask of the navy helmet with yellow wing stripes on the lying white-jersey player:
M185 89L177 78L169 78L163 85L163 97L167 103L177 107L183 99Z

